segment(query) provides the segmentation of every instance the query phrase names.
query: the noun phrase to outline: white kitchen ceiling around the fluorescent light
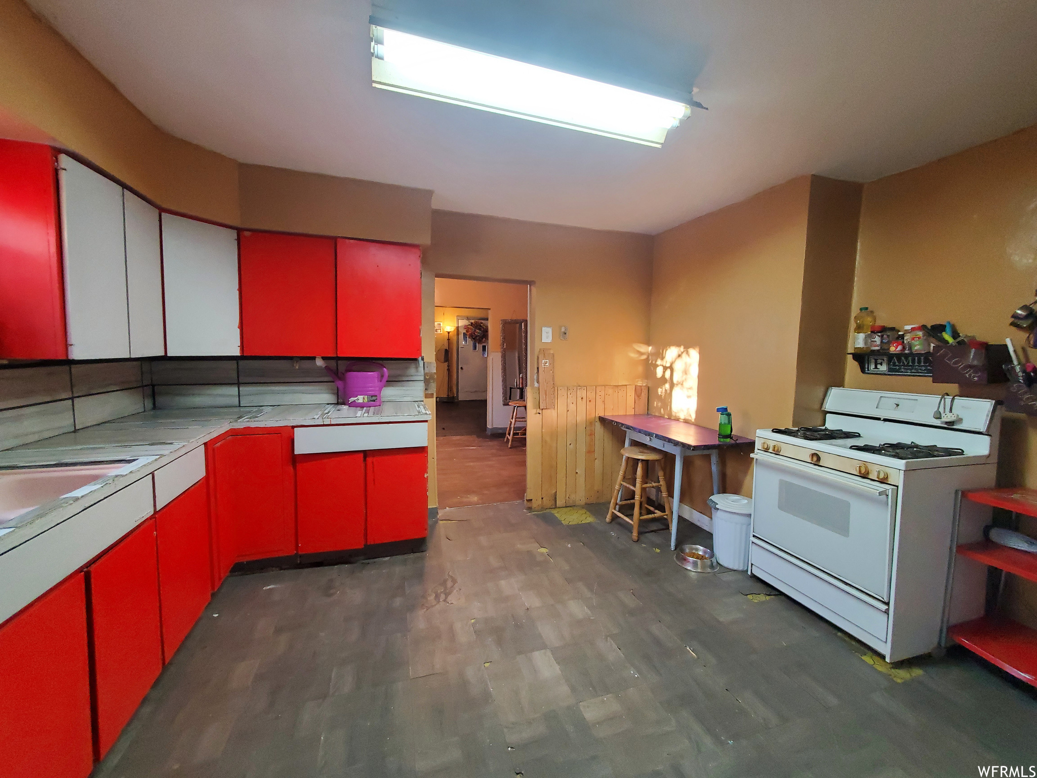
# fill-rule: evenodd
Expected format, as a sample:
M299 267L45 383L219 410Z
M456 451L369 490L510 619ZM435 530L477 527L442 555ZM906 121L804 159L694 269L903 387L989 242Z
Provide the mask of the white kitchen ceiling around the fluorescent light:
M870 180L1037 122L1033 0L480 4L502 30L524 29L508 13L545 29L592 20L568 55L596 52L598 72L694 80L709 110L663 148L375 89L369 2L29 4L173 135L242 162L431 189L438 209L556 224L654 233L803 173Z

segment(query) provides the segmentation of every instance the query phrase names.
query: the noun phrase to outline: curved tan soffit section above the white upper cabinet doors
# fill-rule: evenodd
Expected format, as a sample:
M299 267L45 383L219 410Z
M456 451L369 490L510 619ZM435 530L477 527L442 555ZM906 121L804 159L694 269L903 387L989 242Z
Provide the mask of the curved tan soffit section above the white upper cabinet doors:
M0 0L0 108L166 207L237 222L237 163L157 128L22 0Z

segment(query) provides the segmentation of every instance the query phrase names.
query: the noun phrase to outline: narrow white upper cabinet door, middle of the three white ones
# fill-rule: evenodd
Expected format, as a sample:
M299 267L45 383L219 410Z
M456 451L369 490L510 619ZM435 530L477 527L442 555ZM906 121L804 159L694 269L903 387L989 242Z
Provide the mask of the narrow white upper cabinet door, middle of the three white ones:
M123 190L127 241L127 299L130 305L130 356L166 353L162 323L162 245L159 211Z

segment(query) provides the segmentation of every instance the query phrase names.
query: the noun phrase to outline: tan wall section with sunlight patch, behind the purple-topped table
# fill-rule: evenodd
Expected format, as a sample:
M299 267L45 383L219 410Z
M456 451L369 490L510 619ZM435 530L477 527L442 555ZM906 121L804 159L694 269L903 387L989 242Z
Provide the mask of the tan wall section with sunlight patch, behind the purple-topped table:
M655 238L651 413L734 432L792 422L810 177ZM725 452L725 491L751 494L748 451ZM701 460L701 462L699 461ZM708 515L708 457L691 457L683 501Z

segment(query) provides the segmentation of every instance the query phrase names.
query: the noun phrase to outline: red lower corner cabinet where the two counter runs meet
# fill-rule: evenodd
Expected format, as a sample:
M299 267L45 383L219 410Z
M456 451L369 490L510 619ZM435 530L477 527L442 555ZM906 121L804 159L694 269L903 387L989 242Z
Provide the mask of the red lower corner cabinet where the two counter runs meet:
M235 430L212 446L219 580L234 562L296 553L291 428Z

